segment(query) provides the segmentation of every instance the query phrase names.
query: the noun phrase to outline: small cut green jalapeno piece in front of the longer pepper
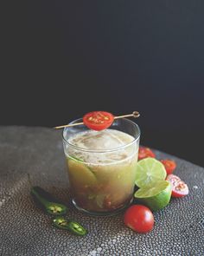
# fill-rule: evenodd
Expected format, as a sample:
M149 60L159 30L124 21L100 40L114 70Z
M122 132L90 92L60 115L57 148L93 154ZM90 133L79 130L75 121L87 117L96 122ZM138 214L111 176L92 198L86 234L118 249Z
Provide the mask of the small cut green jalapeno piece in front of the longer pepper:
M67 220L64 217L55 217L52 220L52 224L60 229L66 229L73 234L84 236L87 233L87 230L84 226L81 226L80 223L74 220Z

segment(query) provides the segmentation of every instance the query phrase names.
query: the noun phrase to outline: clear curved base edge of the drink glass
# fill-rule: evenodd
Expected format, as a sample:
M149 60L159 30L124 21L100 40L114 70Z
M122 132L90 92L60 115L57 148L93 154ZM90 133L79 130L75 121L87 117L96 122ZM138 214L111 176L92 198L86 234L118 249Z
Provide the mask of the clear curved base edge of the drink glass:
M75 200L72 200L73 202L73 206L75 208L77 208L81 213L86 213L88 215L91 216L114 216L117 215L118 213L121 213L126 207L129 207L131 202L132 202L133 198L131 198L131 200L126 203L123 207L119 207L118 209L112 210L110 212L91 212L91 211L87 211L84 208L81 208L77 205L77 203L75 202Z

